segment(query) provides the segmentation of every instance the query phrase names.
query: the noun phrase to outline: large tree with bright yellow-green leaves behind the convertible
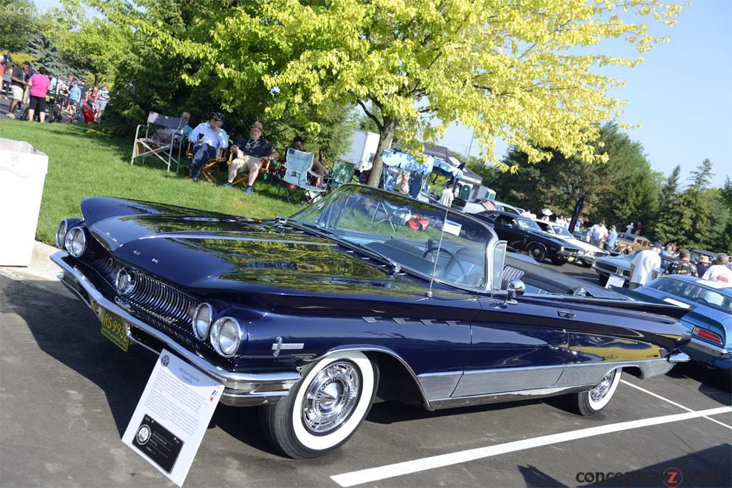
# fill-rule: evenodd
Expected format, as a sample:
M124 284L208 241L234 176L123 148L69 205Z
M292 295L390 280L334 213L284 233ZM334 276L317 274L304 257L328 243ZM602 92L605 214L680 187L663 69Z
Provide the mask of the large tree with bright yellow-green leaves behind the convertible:
M622 82L597 67L638 64L665 40L649 23L671 25L680 11L659 0L201 0L185 31L126 19L190 59L187 83L216 78L212 95L229 110L258 83L269 116L304 100L360 105L381 135L376 186L395 134L416 147L453 121L474 129L487 159L500 136L531 162L549 156L542 147L602 161L591 143L621 114L608 89ZM595 52L605 40L638 56Z

